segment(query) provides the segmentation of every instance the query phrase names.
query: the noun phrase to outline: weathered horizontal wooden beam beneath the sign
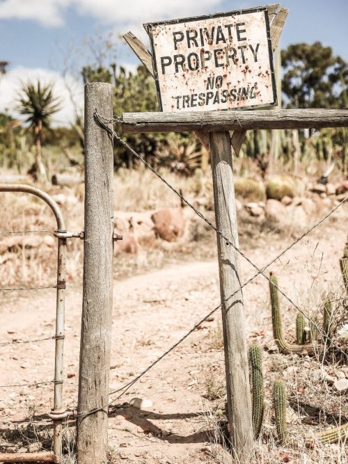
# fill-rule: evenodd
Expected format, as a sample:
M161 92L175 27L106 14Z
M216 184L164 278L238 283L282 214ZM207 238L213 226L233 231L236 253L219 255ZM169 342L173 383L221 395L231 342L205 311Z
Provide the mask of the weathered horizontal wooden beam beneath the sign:
M348 127L348 109L280 109L261 111L196 111L123 113L122 131L232 131L250 129L320 129Z

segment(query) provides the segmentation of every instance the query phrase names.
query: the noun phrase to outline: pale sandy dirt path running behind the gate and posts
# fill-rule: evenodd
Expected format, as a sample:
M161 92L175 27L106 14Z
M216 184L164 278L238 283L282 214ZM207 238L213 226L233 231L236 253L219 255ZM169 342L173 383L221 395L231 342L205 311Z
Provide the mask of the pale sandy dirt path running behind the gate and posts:
M304 309L317 302L322 291L338 283L338 258L346 235L347 222L327 223L272 266L283 288ZM259 239L248 250L248 256L262 266L287 243L279 241L277 236L267 241ZM254 273L251 266L242 262L244 280ZM111 391L139 374L219 304L217 264L178 264L115 282L113 298ZM259 277L246 287L244 298L249 340L268 344L271 318L267 282ZM284 302L284 307L288 306ZM53 289L2 296L0 342L54 335L54 312ZM66 298L65 401L71 409L77 404L80 317L81 287L70 285ZM219 319L216 312L214 320L204 323L201 330L196 330L117 401L118 407L109 419L114 462L212 462L201 450L209 444L211 406L204 397L214 372L221 371L223 366L223 353L216 349ZM0 385L53 378L52 340L0 348ZM132 408L127 402L133 397L150 399L153 405L147 410ZM23 419L33 412L37 416L45 414L51 405L52 385L1 387L1 445L6 440L14 441L16 427L25 434L28 424L22 423ZM25 451L27 445L21 446Z

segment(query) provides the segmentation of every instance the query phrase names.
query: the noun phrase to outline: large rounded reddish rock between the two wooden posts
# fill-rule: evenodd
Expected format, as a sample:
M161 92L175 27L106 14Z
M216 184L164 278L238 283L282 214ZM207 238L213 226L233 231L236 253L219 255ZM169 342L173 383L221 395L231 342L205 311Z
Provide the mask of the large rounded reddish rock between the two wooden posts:
M184 212L182 208L168 208L156 211L151 216L157 237L166 241L177 241L184 234Z

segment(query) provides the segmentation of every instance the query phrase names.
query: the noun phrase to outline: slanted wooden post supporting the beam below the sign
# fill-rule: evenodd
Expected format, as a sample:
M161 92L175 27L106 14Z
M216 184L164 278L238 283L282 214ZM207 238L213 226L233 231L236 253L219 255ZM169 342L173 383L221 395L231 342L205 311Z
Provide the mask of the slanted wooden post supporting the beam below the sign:
M210 133L216 226L239 247L233 184L232 153L228 131ZM239 255L217 234L221 301L242 285ZM228 422L232 452L238 463L249 463L253 449L251 394L248 376L245 317L242 291L222 307L223 345L225 350Z

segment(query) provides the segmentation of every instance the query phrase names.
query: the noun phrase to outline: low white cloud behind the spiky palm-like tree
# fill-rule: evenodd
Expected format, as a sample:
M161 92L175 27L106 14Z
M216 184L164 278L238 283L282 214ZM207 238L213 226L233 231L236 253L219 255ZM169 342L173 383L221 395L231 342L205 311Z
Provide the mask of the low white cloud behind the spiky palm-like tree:
M55 113L53 125L69 125L74 121L74 105L70 99L67 83L74 95L74 101L81 112L84 106L84 86L82 83L68 76L65 79L58 72L45 70L42 68L29 68L18 66L10 70L0 78L0 112L8 111L15 118L22 118L16 109L16 102L21 88L21 82L28 80L36 81L40 79L42 83L54 83L54 95L61 99L61 110Z

